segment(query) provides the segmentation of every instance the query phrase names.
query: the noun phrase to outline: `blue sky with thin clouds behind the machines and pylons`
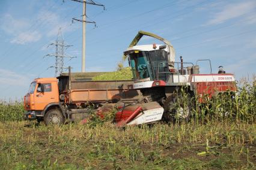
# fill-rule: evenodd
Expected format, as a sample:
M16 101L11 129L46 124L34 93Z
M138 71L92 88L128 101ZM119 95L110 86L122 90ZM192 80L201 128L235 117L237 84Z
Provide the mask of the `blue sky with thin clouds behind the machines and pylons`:
M171 41L176 61L210 59L212 72L224 66L236 79L256 73L256 1L246 0L97 0L87 5L87 72L115 71L139 30ZM0 99L22 99L37 77L54 77L58 29L74 56L65 67L81 71L82 4L71 0L0 0ZM139 44L162 44L144 37ZM199 63L209 73L207 62ZM124 62L127 66L127 62Z

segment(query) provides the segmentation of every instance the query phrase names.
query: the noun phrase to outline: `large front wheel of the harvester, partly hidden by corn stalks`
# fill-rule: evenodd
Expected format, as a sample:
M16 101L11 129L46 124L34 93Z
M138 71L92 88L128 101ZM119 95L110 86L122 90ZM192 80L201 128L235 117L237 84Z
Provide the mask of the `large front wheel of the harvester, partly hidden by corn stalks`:
M182 96L174 94L166 98L163 105L165 111L163 113L163 119L166 122L184 121L188 122L191 117L191 100L190 95Z

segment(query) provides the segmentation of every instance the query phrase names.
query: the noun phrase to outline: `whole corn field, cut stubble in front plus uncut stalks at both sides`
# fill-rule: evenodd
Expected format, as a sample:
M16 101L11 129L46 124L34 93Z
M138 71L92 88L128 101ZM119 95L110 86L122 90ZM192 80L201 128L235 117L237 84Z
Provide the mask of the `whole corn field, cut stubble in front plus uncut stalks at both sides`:
M182 91L182 90L181 90ZM187 93L181 93L183 102ZM186 100L185 100L186 101ZM189 122L117 128L114 111L85 125L22 121L0 102L1 169L256 169L256 86L245 83L192 108ZM194 99L191 98L191 102Z

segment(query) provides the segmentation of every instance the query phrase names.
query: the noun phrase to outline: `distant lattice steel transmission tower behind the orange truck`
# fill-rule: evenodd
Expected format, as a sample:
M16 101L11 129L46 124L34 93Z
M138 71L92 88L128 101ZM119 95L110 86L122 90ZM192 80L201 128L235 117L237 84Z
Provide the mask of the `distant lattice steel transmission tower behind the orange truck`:
M55 45L56 51L55 51L55 54L47 54L46 57L50 57L50 56L55 57L55 66L49 66L49 68L55 68L55 77L58 77L61 74L61 72L64 71L64 69L67 69L67 68L64 68L64 57L70 58L70 59L74 58L73 56L70 56L69 54L65 53L65 50L71 47L72 45L67 45L65 43L61 33L61 28L59 28L58 38L56 39L55 42L53 42L52 44L49 44L48 47L50 45Z

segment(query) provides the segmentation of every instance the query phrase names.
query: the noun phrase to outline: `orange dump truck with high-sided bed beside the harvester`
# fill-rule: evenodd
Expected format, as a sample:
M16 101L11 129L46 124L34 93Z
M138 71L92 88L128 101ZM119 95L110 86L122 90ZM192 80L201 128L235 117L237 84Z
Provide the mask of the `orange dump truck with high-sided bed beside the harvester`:
M138 92L128 90L132 80L92 81L103 73L63 73L57 78L35 78L24 96L26 120L61 125L84 119L106 102L133 99Z

